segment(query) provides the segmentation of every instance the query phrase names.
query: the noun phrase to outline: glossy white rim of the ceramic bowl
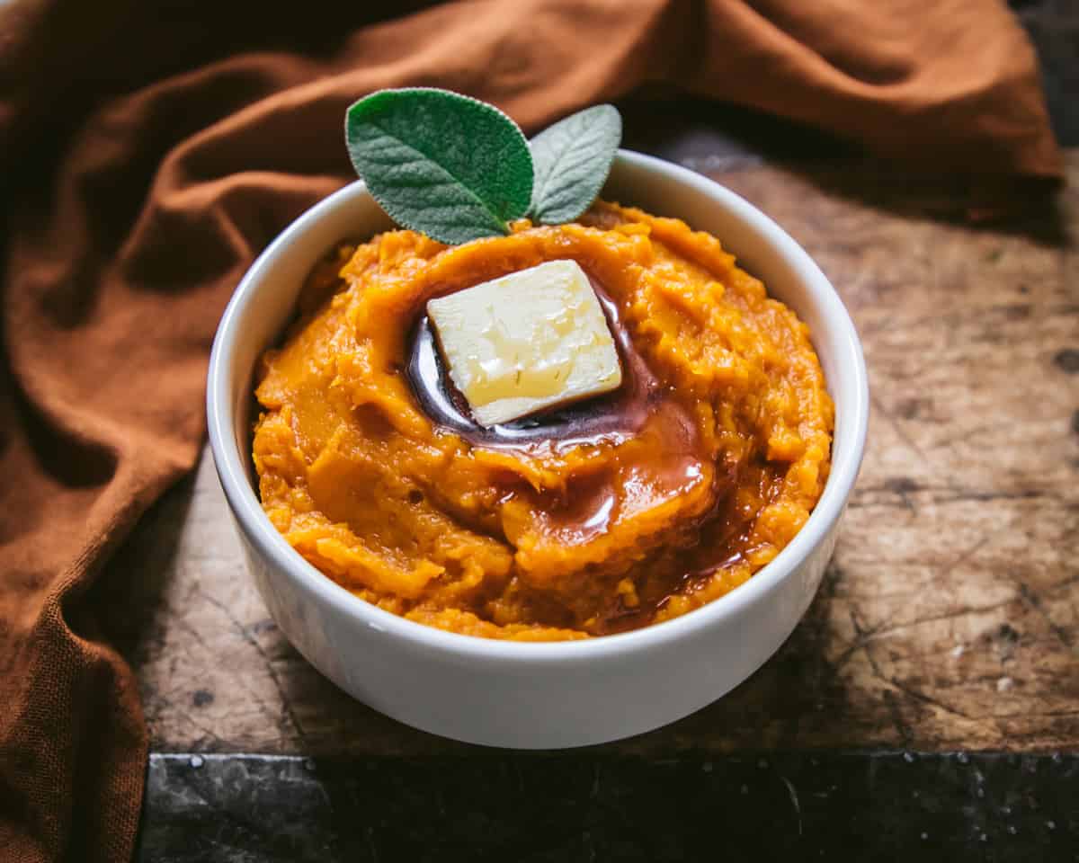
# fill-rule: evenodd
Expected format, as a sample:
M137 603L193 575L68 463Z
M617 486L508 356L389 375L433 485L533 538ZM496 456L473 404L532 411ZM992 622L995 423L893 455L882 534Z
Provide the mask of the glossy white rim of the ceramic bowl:
M869 422L869 384L861 343L843 301L817 263L782 228L729 189L688 168L655 156L619 150L618 161L631 167L658 173L670 181L691 187L716 198L736 218L767 237L775 250L787 258L805 283L815 304L833 325L836 364L845 365L853 375L849 403L836 405L833 430L833 461L828 481L817 506L794 538L743 584L715 600L679 617L651 624L628 632L591 639L552 642L519 642L486 639L438 629L400 617L356 597L323 574L296 551L273 526L262 509L248 479L246 457L235 444L234 406L230 392L230 369L234 361L236 332L255 306L257 288L287 248L302 237L326 214L356 195L367 193L363 180L356 180L328 195L289 224L262 251L247 270L221 316L210 352L206 386L207 426L210 450L237 526L256 551L270 565L278 567L300 590L353 618L357 625L409 642L413 646L438 650L463 659L557 663L564 660L592 660L615 654L639 653L700 634L740 616L743 609L766 601L779 585L794 575L797 564L822 542L838 521L858 478L865 450ZM833 394L834 397L834 394ZM842 424L842 425L841 425ZM834 457L836 441L843 437L839 457Z

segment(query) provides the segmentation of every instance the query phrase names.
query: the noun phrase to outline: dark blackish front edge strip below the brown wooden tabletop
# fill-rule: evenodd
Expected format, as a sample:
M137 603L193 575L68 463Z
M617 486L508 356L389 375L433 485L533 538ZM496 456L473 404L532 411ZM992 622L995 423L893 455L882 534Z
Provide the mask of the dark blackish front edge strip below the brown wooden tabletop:
M138 860L1079 860L1079 753L150 756Z

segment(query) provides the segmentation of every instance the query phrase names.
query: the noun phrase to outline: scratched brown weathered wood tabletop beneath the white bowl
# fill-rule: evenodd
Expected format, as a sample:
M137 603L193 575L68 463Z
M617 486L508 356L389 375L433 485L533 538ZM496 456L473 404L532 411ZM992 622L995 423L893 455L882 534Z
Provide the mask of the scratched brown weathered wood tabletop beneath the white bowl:
M695 164L842 293L870 367L870 444L834 562L779 654L712 707L612 745L1079 749L1079 151L1058 213L995 228L940 218L872 167ZM153 749L457 745L353 701L289 646L208 455L113 572Z

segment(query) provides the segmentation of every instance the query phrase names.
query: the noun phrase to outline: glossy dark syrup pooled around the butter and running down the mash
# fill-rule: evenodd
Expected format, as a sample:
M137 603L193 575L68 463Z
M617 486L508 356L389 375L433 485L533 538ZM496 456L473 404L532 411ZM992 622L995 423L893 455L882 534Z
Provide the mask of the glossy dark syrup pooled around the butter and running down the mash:
M543 532L568 547L598 539L633 510L691 492L702 480L704 463L714 466L708 509L680 524L668 537L671 546L650 554L650 577L638 579L632 605L620 594L609 599L600 615L602 622L591 627L600 634L645 626L672 595L692 592L718 571L743 563L745 535L752 519L736 506L740 466L722 455L712 462L691 411L650 369L617 304L595 278L591 282L622 361L623 384L613 393L483 427L472 419L467 400L454 386L426 315L413 329L407 373L431 420L474 446L534 454L581 444L618 446L630 439L646 442L633 455L620 458L614 471L571 479L557 491L518 492L530 501ZM651 455L641 461L643 453ZM770 496L773 490L762 488L761 492Z

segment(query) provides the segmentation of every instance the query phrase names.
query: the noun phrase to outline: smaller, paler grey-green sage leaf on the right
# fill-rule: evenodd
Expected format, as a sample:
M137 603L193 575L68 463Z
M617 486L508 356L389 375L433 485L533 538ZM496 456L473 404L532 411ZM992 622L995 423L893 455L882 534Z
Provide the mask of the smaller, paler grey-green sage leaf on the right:
M529 143L535 179L529 215L542 224L571 222L606 182L622 141L622 114L597 105L544 129Z

